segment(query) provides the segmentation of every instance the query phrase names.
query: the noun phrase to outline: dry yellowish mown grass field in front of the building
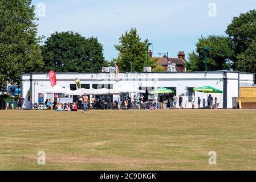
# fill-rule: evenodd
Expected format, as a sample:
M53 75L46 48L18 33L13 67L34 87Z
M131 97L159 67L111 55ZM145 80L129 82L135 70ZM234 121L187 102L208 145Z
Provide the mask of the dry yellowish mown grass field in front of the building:
M256 110L0 111L0 170L247 169Z

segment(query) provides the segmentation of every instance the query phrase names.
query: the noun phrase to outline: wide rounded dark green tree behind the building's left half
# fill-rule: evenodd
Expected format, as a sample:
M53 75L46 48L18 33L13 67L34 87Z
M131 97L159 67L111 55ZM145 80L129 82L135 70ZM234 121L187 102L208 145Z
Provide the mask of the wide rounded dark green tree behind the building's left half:
M45 72L100 72L108 65L97 38L86 39L72 31L52 34L42 46L42 55Z

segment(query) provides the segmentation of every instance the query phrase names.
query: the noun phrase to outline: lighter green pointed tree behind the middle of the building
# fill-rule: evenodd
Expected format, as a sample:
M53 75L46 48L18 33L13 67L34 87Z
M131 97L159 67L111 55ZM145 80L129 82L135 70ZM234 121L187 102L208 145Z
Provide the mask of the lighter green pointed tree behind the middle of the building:
M115 46L119 56L112 62L118 65L120 72L131 71L131 63L132 71L142 72L143 67L147 65L148 39L141 42L136 28L132 28L131 31L122 34L119 40L120 45Z

